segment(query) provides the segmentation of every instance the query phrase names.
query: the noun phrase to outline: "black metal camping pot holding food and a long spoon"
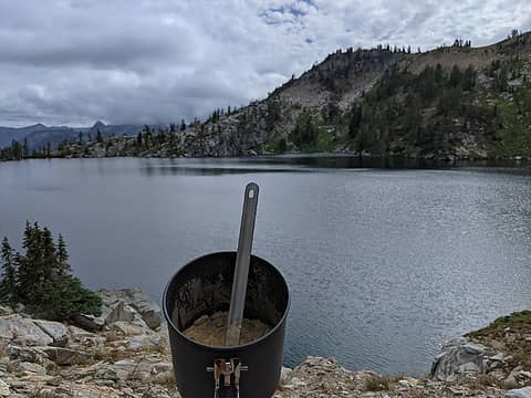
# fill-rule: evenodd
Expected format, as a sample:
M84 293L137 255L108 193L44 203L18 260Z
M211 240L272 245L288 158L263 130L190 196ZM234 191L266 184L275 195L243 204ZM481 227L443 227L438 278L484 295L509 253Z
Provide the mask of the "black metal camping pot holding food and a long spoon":
M228 311L236 252L207 254L180 269L169 281L163 297L177 387L184 398L211 398L216 388L212 368L223 359L236 369L241 364L241 398L270 398L282 369L285 320L290 308L288 284L268 261L251 256L244 317L260 320L272 329L259 339L236 347L210 347L184 335L202 315ZM235 388L237 376L227 380ZM221 377L221 390L225 387ZM228 381L227 381L228 383ZM225 392L226 394L226 392Z

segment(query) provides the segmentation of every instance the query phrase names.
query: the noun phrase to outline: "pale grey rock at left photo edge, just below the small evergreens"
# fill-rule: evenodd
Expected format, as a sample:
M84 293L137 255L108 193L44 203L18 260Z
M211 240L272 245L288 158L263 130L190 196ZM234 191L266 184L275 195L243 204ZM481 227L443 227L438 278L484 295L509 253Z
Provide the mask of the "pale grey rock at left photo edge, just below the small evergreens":
M10 315L0 318L0 339L17 341L19 345L44 346L53 343L53 338L45 334L31 320L20 315Z

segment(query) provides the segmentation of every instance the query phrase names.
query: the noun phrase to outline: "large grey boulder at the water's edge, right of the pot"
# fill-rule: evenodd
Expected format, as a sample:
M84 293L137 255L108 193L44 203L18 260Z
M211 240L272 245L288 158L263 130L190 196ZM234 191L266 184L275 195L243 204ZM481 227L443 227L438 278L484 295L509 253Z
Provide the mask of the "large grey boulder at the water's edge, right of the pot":
M448 342L431 366L431 375L438 380L451 380L459 375L486 373L492 363L499 362L499 354L489 352L480 344L461 337Z

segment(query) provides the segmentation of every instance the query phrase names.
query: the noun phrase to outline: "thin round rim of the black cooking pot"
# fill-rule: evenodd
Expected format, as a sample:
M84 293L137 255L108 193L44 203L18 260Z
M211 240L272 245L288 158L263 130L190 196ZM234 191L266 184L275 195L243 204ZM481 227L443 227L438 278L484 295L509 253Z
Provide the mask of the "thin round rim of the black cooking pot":
M274 266L273 264L271 264L268 260L266 259L262 259L261 256L259 255L254 255L254 254L251 254L251 258L256 258L256 259L259 259L261 261L264 261L267 264L269 264L280 276L280 279L282 280L282 282L284 282L284 285L287 287L287 292L288 292L288 303L285 304L285 310L284 310L284 313L282 315L282 317L280 318L279 322L277 322L277 325L274 325L273 328L271 328L271 331L269 331L268 333L266 333L263 336L252 341L252 342L249 342L247 344L241 344L241 345L236 345L236 346L230 346L230 347L218 347L218 346L209 346L209 345L206 345L206 344L202 344L202 343L199 343L190 337L188 337L187 335L185 335L183 332L179 331L178 327L175 326L174 322L171 321L171 317L169 316L168 314L168 308L166 306L166 302L167 302L167 297L168 297L168 290L169 290L169 286L171 284L171 282L181 273L184 272L185 269L187 269L189 265L191 265L192 263L195 263L196 261L199 261L199 260L202 260L205 258L208 258L208 256L211 256L211 255L216 255L216 254L237 254L236 251L233 250L226 250L226 251L219 251L219 252L212 252L212 253L208 253L208 254L204 254L204 255L200 255L191 261L189 261L188 263L186 263L185 265L183 265L177 272L174 273L174 275L169 279L168 283L166 284L166 287L164 289L164 293L163 293L163 313L164 313L164 317L166 318L166 322L168 323L168 325L171 326L171 328L177 332L181 337L184 337L185 339L187 339L188 342L195 344L195 345L198 345L200 347L205 347L205 348L209 348L209 349L216 349L216 350L222 350L222 352L230 352L230 350L235 350L235 349L241 349L241 348L246 348L246 347L250 347L266 338L268 338L269 336L271 336L279 327L281 327L282 324L284 324L285 322L285 318L288 317L288 313L290 312L290 307L291 307L291 294L290 294L290 286L288 284L288 281L285 280L284 275L282 274L282 272L280 272L277 266Z

